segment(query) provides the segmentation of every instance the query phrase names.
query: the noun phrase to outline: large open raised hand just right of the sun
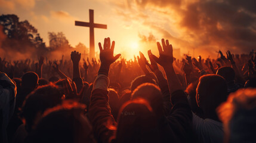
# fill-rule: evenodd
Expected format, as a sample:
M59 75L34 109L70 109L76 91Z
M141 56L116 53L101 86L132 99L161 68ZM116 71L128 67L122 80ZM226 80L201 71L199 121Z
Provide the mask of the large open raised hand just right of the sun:
M162 46L159 42L156 43L158 45L159 58L152 54L152 58L156 61L156 63L160 64L164 68L168 68L168 66L172 65L174 58L172 55L172 45L169 44L169 41L162 39ZM163 50L164 49L164 50Z

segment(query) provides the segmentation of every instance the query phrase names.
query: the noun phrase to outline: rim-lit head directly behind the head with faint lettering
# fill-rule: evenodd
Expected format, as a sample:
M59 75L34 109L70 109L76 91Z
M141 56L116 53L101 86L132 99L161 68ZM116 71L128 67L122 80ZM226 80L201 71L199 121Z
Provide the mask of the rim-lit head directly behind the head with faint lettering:
M144 98L149 101L156 114L162 114L163 96L158 86L152 83L143 83L132 92L131 100Z

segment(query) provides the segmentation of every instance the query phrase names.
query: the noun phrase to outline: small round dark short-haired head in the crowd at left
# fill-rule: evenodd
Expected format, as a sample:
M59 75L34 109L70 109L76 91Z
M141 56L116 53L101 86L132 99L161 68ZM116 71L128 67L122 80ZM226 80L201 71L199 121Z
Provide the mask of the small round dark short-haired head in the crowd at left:
M38 74L33 71L29 71L23 74L21 77L21 87L26 89L36 89L38 86Z

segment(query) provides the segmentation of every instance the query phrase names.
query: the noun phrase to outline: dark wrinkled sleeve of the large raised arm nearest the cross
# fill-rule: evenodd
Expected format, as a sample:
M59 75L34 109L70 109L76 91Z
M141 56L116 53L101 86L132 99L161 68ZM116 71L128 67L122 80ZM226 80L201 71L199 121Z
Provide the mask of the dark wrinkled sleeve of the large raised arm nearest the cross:
M109 106L109 92L104 89L108 83L104 79L106 77L98 76L94 82L88 114L95 138L100 139L100 142L112 142L115 138L116 122Z

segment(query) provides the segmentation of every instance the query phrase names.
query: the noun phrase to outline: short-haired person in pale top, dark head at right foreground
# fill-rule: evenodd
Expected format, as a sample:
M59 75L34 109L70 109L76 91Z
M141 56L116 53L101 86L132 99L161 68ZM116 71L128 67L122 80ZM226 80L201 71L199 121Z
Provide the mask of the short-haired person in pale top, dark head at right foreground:
M201 76L196 90L196 101L204 119L193 114L193 129L199 142L223 142L223 124L216 108L227 100L226 80L215 74Z

